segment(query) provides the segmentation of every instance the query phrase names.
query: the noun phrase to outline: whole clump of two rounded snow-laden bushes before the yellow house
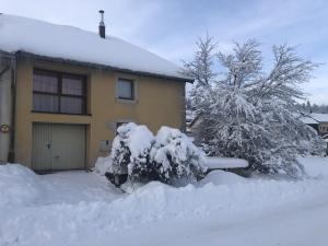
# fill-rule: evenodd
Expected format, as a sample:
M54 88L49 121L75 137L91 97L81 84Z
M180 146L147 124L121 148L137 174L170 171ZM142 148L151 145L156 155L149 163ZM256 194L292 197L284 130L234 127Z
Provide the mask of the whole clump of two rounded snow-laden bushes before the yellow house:
M98 159L95 171L127 174L129 181L190 181L206 171L204 155L178 129L162 127L157 136L133 122L120 126L108 157ZM181 181L183 180L183 181Z

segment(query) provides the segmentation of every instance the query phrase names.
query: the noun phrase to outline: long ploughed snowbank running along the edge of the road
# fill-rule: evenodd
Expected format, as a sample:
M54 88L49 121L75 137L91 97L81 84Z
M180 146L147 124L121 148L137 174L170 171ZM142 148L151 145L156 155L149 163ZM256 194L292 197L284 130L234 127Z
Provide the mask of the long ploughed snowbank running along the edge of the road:
M224 211L271 208L328 188L327 183L319 180L231 184L231 174L221 172L220 175L226 183L209 183L201 188L192 185L173 188L152 181L113 202L81 201L78 204L0 210L0 241L4 245L91 245L97 238L110 238L110 233L138 229L142 224L199 219Z

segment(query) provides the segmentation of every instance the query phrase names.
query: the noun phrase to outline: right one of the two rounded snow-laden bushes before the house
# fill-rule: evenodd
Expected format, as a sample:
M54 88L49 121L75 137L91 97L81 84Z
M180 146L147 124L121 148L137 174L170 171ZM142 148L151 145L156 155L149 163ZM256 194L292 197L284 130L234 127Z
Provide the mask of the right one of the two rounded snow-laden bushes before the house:
M203 153L185 133L169 127L159 130L151 161L163 183L190 180L206 171Z

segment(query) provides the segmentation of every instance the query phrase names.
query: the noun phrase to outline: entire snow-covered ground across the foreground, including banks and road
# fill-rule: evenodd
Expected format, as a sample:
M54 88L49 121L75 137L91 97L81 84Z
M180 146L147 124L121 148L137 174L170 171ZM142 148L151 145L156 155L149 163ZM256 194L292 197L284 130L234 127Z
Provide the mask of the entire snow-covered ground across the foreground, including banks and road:
M197 185L122 194L96 173L0 166L0 245L328 245L328 160L308 178L215 171Z

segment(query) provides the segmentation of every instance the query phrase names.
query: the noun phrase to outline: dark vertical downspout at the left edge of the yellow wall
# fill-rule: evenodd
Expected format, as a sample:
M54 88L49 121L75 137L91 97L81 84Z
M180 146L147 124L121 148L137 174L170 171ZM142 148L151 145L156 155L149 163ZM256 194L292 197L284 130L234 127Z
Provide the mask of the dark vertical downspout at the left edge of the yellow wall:
M9 163L15 162L16 68L17 68L17 55L15 54L11 58L12 114L11 114L10 147L8 153Z

